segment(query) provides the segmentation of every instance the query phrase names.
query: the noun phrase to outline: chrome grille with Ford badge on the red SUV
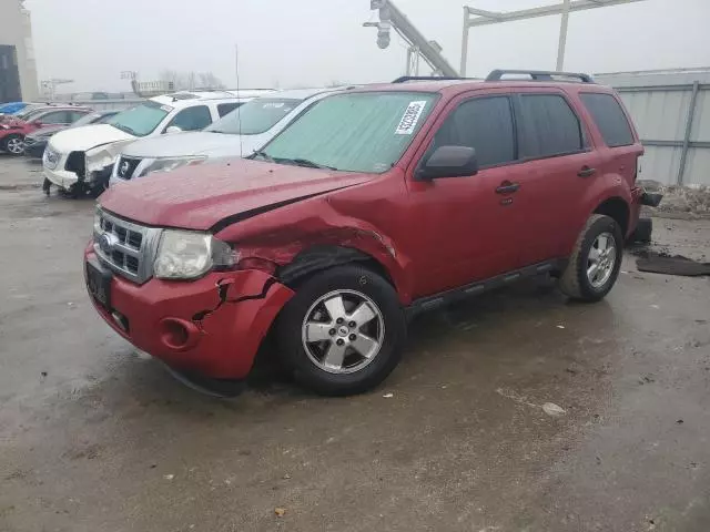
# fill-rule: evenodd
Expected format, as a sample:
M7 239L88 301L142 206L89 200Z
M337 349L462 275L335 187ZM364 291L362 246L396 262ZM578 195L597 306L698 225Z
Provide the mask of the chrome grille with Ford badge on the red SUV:
M114 273L143 284L153 275L160 232L97 209L93 248L101 262Z

